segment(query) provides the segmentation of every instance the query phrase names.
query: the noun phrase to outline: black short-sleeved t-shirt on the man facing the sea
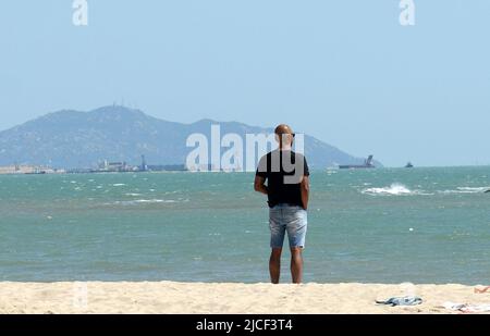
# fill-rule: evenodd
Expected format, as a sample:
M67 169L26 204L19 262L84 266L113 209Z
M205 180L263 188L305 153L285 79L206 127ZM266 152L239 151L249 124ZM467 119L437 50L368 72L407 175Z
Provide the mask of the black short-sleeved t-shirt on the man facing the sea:
M301 182L309 176L304 155L292 150L271 151L260 159L256 176L267 179L270 208L279 203L304 207Z

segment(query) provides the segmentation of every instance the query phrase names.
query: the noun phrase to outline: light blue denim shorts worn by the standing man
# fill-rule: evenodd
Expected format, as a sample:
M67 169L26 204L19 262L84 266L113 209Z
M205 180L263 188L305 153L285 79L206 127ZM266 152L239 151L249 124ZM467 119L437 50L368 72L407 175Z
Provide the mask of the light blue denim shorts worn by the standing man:
M308 216L298 206L278 204L269 209L270 247L282 248L287 232L290 248L305 247Z

